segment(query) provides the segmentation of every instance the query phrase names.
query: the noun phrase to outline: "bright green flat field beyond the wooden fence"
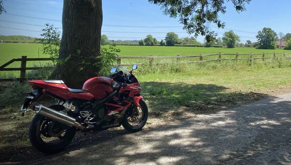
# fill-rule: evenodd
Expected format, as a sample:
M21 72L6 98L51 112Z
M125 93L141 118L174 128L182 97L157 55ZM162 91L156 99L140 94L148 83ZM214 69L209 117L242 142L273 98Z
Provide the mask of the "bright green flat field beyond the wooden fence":
M291 53L291 50L262 50L254 48L205 48L205 47L178 47L178 46L116 46L121 50L119 55L127 56L172 56L172 55L199 55L199 54L214 54L214 53ZM38 50L40 57L49 57L42 53L42 44L39 43L0 43L0 65L8 62L12 58L21 58L21 55L27 55L28 58L37 58ZM267 55L266 55L267 56ZM222 56L226 58L229 56ZM255 57L255 56L254 56ZM217 56L206 57L205 59L217 58ZM158 60L154 59L154 62L171 62L176 59ZM181 60L199 60L198 58L181 59ZM122 63L144 63L148 62L148 59L122 59ZM39 62L28 62L28 66L33 64L39 65ZM45 62L41 62L42 64ZM9 67L19 67L20 62L15 62Z

